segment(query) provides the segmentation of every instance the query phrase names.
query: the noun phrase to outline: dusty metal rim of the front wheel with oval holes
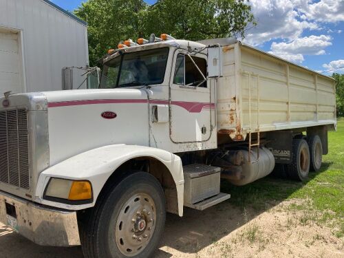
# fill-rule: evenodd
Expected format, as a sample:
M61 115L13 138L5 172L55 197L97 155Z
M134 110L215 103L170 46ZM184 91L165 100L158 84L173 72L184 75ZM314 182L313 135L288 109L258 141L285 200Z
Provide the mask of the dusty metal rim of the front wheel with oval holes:
M156 209L151 196L138 193L122 206L116 222L118 250L127 257L138 255L147 247L155 229Z

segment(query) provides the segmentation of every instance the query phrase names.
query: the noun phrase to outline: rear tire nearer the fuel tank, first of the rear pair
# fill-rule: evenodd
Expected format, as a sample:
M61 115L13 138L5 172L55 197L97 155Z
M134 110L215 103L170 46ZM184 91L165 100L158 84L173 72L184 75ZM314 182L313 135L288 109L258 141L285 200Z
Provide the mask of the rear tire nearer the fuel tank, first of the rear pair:
M303 139L292 140L292 162L287 165L289 178L305 181L310 172L310 149Z

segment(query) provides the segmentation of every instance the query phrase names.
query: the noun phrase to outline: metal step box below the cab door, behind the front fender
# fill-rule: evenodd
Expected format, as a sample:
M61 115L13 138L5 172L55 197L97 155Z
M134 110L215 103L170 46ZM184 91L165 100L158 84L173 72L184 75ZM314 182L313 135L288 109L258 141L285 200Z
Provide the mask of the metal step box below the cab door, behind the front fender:
M192 205L219 194L220 172L217 166L189 164L184 171L184 205Z

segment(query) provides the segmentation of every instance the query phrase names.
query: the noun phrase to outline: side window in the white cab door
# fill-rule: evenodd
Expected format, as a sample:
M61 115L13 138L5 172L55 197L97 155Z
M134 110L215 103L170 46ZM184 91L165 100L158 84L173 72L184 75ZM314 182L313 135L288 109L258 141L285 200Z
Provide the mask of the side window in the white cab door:
M193 61L206 76L206 59L193 56ZM175 75L173 83L187 86L197 86L204 80L200 71L193 63L189 56L178 54L175 62ZM206 87L206 81L199 85L199 87Z

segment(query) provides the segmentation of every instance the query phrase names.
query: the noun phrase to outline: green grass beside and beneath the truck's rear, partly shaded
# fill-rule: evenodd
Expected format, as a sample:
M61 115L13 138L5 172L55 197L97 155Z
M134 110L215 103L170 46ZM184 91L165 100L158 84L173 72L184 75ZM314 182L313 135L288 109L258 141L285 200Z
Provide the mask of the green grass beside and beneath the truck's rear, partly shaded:
M305 204L292 204L290 209L304 211L302 224L312 221L333 228L334 235L344 236L344 120L336 132L329 132L329 153L323 156L321 171L311 172L308 182L263 178L246 186L224 182L222 191L231 194L236 206L257 210L283 200L301 199Z

